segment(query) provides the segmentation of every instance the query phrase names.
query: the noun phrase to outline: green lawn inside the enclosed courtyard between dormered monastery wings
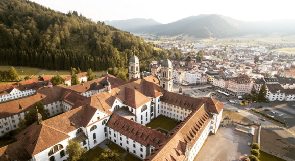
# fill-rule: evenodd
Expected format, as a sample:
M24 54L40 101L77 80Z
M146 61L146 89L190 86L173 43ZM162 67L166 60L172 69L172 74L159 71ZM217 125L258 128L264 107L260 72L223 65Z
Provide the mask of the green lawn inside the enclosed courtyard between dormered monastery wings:
M153 129L156 129L157 127L162 127L168 131L171 131L176 125L177 121L160 115L158 118L152 120L152 122L147 124L146 126Z

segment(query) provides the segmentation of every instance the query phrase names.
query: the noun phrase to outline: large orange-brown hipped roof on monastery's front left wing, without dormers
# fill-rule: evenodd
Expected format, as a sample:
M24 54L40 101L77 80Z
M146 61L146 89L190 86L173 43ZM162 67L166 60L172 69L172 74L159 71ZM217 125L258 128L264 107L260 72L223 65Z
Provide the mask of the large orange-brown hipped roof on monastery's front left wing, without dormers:
M86 127L95 114L96 109L83 105L53 118L44 120L42 124L33 123L20 132L15 138L19 141L26 140L24 149L34 156L39 152L70 137L67 133Z

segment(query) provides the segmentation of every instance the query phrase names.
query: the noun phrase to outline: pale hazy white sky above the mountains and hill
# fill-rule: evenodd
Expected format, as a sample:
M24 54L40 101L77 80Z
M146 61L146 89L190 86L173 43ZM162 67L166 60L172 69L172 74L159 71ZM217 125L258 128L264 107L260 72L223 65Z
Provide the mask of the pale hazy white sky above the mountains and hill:
M31 0L33 1L33 0ZM67 13L78 11L92 20L152 18L170 23L199 14L220 14L243 21L295 19L293 0L34 0L51 9Z

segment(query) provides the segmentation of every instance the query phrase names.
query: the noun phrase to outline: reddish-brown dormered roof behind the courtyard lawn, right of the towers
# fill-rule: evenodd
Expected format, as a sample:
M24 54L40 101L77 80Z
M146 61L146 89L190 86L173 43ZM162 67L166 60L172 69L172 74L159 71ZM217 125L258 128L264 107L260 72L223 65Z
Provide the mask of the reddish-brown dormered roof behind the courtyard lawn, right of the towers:
M188 110L195 110L196 108L199 108L204 101L199 98L189 97L186 95L180 95L178 93L174 92L168 92L166 91L162 98L162 102L173 104L180 106L181 108L185 108Z

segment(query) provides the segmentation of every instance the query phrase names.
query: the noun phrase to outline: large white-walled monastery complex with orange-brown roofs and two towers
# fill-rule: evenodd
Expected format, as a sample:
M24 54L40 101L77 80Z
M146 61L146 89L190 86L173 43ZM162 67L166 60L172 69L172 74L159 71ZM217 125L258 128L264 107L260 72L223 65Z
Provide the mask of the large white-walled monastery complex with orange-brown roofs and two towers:
M161 74L166 75L137 79L136 58L131 59L134 74L130 72L129 82L106 74L71 87L43 88L2 104L1 125L14 125L11 120L22 119L35 101L43 102L51 115L63 113L24 129L16 142L0 148L0 160L66 160L69 140L90 150L106 139L142 160L193 160L209 133L216 133L224 104L170 92L170 60L162 65ZM160 115L179 122L169 135L145 126Z

